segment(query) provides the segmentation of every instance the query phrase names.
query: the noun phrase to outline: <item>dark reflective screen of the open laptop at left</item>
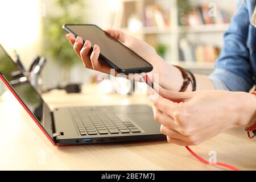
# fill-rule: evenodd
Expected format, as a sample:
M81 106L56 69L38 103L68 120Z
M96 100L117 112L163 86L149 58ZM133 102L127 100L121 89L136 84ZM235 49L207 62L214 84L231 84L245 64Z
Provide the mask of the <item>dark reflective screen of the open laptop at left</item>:
M28 110L35 116L44 130L46 130L48 134L52 134L52 127L51 124L49 124L51 121L47 121L48 123L43 121L43 109L48 109L47 105L44 104L40 94L36 92L34 87L26 80L26 77L19 76L17 78L14 76L14 73L19 71L20 69L0 45L0 73L2 73L13 87L20 100L27 106ZM52 138L52 135L50 136Z

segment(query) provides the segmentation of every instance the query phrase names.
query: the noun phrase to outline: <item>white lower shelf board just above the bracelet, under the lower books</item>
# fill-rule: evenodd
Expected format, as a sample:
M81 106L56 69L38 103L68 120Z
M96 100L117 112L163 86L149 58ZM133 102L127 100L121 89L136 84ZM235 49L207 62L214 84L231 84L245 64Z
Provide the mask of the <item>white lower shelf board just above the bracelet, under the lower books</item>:
M215 63L196 63L186 61L167 61L168 64L180 65L185 69L214 69Z

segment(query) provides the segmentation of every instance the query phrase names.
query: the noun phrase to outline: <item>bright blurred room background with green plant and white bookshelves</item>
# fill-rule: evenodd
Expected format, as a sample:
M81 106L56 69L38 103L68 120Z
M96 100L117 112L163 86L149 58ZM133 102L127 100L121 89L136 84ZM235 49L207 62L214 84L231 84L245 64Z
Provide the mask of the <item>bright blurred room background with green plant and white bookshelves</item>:
M46 88L63 82L95 82L98 74L85 69L73 52L61 28L65 23L92 23L125 31L151 44L168 63L209 75L237 6L234 0L0 0L0 3L0 43L11 57L19 55L26 68L36 56L46 57L42 72Z

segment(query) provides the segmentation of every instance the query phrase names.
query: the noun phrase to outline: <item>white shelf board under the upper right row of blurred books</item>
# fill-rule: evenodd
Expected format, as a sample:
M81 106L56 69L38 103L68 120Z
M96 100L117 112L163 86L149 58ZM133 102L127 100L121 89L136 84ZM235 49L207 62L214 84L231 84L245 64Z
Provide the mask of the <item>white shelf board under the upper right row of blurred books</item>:
M194 27L179 27L180 33L211 33L211 32L225 32L229 28L228 24L205 24Z

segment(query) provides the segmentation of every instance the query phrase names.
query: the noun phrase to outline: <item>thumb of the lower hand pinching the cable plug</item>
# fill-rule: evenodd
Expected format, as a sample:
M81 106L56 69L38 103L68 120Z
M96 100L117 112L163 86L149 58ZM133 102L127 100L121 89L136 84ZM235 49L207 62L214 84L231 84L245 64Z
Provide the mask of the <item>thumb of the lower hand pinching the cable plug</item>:
M173 102L184 102L184 101L191 100L194 94L193 92L175 92L175 91L167 90L157 84L154 84L154 90L158 92L158 94L163 98L166 98Z

